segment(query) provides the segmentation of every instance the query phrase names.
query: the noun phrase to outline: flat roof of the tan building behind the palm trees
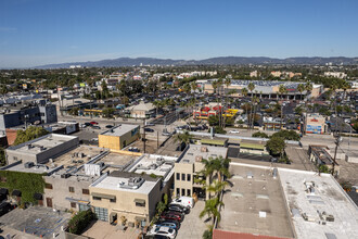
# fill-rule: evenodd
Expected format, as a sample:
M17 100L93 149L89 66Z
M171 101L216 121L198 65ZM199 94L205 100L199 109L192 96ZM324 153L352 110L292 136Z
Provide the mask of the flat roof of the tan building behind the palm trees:
M202 156L207 160L209 158L222 156L227 158L228 148L223 147L213 147L213 146L201 146L201 144L190 144L188 151L180 160L180 163L194 163L196 156Z

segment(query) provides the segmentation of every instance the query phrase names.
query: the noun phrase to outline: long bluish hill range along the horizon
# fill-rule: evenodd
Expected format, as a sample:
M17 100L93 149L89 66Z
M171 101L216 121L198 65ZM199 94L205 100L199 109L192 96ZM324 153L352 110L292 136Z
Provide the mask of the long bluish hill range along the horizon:
M323 65L332 64L358 64L358 58L244 58L244 56L220 56L205 60L172 60L155 58L118 58L112 60L102 60L93 62L71 62L61 64L41 65L35 68L68 68L71 65L81 65L82 67L117 67L133 65L243 65L243 64L306 64Z

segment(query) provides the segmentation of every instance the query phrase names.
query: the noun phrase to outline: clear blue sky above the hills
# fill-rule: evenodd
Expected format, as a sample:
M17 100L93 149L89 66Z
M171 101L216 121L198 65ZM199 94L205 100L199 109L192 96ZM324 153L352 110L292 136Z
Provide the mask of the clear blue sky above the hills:
M357 0L0 0L0 68L122 56L358 56Z

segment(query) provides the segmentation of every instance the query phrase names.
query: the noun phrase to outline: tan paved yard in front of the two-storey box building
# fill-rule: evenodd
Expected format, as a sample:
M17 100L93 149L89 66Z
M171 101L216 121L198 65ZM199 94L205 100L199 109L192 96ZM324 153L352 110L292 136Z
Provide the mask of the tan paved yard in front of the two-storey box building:
M118 226L113 226L107 222L97 221L82 234L82 236L95 239L137 239L140 229L128 227L125 231Z

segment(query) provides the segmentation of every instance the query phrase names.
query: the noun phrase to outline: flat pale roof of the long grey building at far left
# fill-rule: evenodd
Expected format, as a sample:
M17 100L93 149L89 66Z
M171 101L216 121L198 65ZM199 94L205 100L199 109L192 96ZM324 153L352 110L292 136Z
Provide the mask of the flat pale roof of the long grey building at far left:
M7 150L16 150L17 152L23 152L27 154L38 154L40 152L47 151L51 148L63 144L64 142L71 141L77 136L67 136L59 134L49 134L37 139L21 143L18 146L13 146Z

